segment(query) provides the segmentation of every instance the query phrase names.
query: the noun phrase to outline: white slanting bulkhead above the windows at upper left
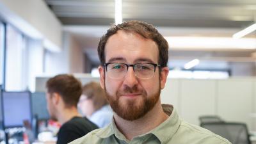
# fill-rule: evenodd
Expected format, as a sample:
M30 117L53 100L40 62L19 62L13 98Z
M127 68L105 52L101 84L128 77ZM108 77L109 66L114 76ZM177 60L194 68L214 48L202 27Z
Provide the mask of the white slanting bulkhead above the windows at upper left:
M0 16L44 47L61 50L62 26L43 0L0 0Z

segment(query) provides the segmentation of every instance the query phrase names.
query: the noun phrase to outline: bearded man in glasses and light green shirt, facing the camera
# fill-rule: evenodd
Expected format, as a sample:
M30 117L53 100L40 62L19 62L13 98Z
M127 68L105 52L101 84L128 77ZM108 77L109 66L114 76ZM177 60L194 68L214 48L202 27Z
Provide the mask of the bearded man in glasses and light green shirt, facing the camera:
M108 29L99 42L100 84L113 111L113 122L72 144L168 143L230 144L162 108L159 99L168 75L168 43L152 25L129 21ZM165 113L166 112L166 113Z

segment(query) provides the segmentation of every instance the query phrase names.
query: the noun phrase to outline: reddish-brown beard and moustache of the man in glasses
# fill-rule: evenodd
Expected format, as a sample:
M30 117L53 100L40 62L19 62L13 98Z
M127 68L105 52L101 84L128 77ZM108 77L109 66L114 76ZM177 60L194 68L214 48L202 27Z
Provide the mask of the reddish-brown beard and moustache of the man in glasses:
M106 92L106 98L116 115L129 121L138 120L145 116L148 111L154 108L161 93L160 83L157 92L152 95L148 95L145 90L138 90L138 86L136 85L132 88L125 86L124 90L118 90L116 95L110 95L106 87L104 90ZM120 97L122 97L122 93L141 93L141 95L136 96L137 98L135 99L121 100Z

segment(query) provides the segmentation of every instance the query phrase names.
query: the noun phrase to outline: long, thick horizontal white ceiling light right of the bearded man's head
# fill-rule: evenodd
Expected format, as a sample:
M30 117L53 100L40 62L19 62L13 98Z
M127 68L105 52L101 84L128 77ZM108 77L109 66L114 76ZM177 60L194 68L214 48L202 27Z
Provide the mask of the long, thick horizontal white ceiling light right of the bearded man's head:
M256 49L255 38L227 38L200 36L164 37L170 49Z

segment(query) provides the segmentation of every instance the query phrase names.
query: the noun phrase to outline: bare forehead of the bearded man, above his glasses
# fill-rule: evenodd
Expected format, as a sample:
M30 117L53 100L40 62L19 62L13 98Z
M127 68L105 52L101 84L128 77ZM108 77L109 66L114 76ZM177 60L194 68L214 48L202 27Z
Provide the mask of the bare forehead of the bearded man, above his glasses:
M156 63L159 50L156 42L134 33L118 31L111 36L106 44L106 62L115 61L147 61Z

